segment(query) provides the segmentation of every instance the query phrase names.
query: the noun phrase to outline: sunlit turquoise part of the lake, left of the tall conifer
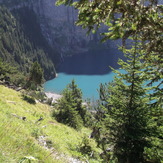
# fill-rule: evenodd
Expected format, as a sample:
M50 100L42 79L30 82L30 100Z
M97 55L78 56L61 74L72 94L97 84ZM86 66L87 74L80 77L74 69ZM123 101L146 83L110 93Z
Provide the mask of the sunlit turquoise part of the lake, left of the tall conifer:
M45 83L44 88L47 92L61 93L72 79L75 80L78 87L83 92L83 98L98 99L98 91L100 83L108 83L112 81L114 73L106 75L70 75L59 73L58 77Z

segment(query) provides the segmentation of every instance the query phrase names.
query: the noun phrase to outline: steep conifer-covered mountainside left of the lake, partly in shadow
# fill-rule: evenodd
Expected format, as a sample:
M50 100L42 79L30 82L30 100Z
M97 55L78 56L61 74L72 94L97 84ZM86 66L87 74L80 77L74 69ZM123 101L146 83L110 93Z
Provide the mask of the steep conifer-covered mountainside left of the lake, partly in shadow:
M45 79L55 77L54 52L41 34L36 16L27 7L13 10L0 7L0 57L4 62L16 66L24 74L33 62L38 61L44 70Z

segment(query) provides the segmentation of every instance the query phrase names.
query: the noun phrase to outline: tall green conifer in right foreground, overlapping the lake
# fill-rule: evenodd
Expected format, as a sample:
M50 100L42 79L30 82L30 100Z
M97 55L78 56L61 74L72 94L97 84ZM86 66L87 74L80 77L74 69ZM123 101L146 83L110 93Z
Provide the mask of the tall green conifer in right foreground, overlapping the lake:
M143 162L145 148L150 147L151 137L156 136L151 126L156 129L152 119L157 108L150 107L149 88L145 87L147 76L143 72L143 51L139 43L135 41L134 44L131 49L123 49L127 62L118 62L125 73L114 70L118 77L109 84L107 90L101 86L100 109L103 114L98 121L100 132L96 138L104 150L106 161ZM112 158L108 148L113 152Z

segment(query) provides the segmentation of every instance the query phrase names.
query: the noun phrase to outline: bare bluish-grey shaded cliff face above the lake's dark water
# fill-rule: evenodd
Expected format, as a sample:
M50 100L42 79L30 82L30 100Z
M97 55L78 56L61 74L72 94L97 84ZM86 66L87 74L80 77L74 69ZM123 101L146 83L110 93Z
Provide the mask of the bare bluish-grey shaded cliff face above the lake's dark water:
M61 52L61 57L86 50L92 36L86 37L86 32L75 26L77 11L72 7L55 6L55 2L33 0L31 3L48 43Z

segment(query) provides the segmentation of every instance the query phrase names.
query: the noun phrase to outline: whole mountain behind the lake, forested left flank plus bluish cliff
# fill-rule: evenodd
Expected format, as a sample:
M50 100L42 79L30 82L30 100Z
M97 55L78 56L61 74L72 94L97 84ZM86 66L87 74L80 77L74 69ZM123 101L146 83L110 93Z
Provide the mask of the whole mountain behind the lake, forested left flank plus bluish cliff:
M115 47L110 41L99 45L100 31L86 36L86 30L75 25L77 10L55 6L55 2L0 0L7 7L1 7L0 57L23 72L29 72L32 62L38 61L46 80L55 77L55 68L64 57Z

